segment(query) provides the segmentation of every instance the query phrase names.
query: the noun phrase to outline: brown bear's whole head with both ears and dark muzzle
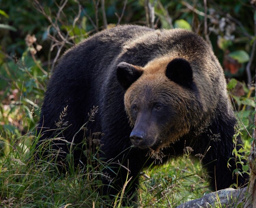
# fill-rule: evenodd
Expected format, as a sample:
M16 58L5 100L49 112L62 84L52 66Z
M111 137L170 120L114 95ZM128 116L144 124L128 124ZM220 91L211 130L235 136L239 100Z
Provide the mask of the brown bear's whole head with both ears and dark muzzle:
M160 58L144 67L121 62L117 79L126 90L134 146L157 151L187 134L198 121L198 91L187 60Z

